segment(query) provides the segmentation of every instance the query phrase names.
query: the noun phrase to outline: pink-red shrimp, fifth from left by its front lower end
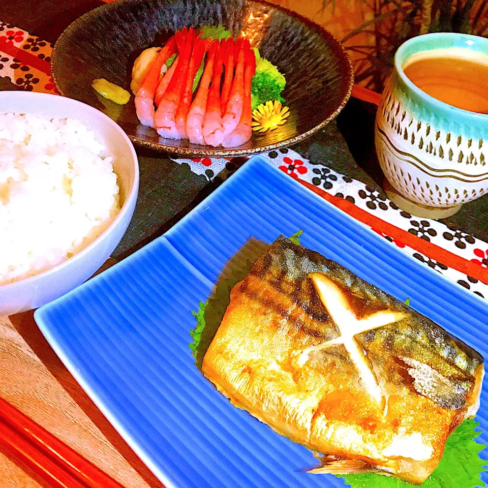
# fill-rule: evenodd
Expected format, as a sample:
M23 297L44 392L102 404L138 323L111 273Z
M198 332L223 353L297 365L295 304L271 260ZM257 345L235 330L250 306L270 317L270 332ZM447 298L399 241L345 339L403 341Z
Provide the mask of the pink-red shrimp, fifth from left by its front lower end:
M220 82L222 78L222 45L218 45L214 61L212 84L208 92L207 109L203 117L203 138L205 144L220 146L224 139L220 105Z

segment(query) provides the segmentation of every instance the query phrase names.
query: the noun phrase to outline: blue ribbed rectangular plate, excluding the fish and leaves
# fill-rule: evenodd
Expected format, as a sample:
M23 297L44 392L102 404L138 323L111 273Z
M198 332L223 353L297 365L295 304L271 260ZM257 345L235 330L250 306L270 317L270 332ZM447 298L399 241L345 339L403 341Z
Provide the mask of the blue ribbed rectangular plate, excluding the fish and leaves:
M234 408L194 366L191 311L251 237L338 261L487 357L488 304L254 157L164 236L35 318L67 368L166 486L344 486L307 449ZM486 384L478 420L488 442ZM483 475L488 480L488 476Z

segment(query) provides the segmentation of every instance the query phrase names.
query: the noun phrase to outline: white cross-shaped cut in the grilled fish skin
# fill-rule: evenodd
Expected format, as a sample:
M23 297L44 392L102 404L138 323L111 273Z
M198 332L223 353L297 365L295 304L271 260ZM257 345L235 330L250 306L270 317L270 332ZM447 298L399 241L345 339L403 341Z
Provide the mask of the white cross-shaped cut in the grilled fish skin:
M316 346L309 346L304 349L298 357L298 365L303 366L309 359L310 354L316 351L342 344L346 348L351 361L355 364L364 386L370 395L378 403L381 403L383 400L381 388L373 374L368 358L354 339L354 336L362 332L368 332L369 330L398 322L405 318L405 314L401 312L381 310L368 315L367 317L363 317L362 319L358 319L354 311L351 309L347 297L332 280L322 273L310 273L309 277L317 290L320 301L327 309L327 312L339 329L341 335L330 341L323 342Z

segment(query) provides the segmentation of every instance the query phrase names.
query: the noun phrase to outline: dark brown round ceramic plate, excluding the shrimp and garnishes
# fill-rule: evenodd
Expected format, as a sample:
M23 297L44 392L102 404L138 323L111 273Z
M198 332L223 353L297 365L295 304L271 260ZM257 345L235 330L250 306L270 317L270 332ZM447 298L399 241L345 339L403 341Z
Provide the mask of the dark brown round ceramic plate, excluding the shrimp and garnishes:
M139 124L134 98L124 106L92 88L106 78L129 90L132 64L168 29L222 24L243 34L278 66L291 115L275 131L253 133L236 148L215 148L163 139ZM136 144L184 156L261 153L309 137L346 104L353 85L351 62L341 44L318 25L282 8L254 0L120 0L73 22L51 56L54 84L61 95L92 105L113 118Z

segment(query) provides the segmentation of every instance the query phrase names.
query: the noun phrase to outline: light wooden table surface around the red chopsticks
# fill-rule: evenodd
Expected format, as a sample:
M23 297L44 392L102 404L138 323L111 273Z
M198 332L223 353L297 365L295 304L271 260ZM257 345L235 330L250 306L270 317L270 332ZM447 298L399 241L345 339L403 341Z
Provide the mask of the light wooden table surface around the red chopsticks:
M33 315L0 317L0 396L124 486L163 488L68 372ZM48 485L0 446L0 486Z

